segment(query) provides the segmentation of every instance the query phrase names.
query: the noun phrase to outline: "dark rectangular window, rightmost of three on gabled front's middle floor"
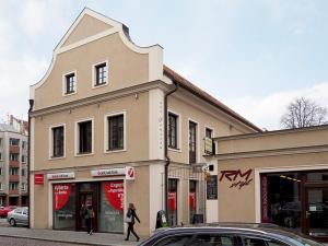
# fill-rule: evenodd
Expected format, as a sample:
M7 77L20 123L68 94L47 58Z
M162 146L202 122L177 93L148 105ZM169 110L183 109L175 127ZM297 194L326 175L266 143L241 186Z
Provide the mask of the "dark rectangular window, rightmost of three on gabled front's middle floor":
M108 120L108 150L122 150L125 127L124 127L124 115L109 116Z

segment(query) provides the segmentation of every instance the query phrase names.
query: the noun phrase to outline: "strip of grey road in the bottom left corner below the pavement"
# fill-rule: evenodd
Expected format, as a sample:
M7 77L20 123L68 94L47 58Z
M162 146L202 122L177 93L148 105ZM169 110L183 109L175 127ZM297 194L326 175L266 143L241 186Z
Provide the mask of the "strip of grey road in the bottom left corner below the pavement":
M17 237L0 236L0 246L83 246L82 244L55 243ZM86 245L84 245L86 246Z

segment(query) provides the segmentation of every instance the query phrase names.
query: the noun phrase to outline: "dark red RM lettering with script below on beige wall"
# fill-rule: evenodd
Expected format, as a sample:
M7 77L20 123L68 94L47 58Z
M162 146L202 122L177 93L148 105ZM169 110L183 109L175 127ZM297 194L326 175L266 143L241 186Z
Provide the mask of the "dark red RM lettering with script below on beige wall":
M220 181L222 181L225 178L232 183L229 188L238 187L239 189L242 189L244 186L248 186L253 181L253 178L249 178L251 172L253 169L248 169L245 173L242 173L241 169L221 171Z

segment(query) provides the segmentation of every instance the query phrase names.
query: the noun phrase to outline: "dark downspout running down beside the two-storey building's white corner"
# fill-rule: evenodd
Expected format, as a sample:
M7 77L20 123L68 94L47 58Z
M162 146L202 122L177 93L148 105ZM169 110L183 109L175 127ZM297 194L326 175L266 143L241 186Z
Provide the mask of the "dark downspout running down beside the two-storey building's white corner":
M164 95L164 150L165 150L165 169L164 169L164 187L165 187L165 213L168 214L168 165L171 163L167 147L167 97L177 91L178 85L174 82L175 87Z

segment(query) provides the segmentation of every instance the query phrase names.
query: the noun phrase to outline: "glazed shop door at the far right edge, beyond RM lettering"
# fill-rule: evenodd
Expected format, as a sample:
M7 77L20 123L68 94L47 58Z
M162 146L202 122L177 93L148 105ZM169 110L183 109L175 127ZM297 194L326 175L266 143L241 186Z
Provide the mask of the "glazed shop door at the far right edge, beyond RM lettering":
M328 242L328 187L306 189L306 232L321 242Z

